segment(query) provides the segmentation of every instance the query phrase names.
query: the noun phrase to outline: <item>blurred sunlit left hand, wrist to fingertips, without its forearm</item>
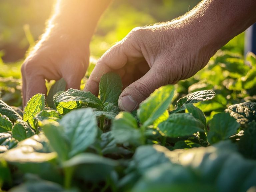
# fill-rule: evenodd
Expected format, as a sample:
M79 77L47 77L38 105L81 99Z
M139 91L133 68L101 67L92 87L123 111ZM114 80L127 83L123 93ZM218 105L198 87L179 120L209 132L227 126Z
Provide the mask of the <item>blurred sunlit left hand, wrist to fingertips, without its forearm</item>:
M64 78L66 89L80 89L89 63L89 41L61 32L44 34L25 59L22 72L23 105L36 93L46 95L45 79Z

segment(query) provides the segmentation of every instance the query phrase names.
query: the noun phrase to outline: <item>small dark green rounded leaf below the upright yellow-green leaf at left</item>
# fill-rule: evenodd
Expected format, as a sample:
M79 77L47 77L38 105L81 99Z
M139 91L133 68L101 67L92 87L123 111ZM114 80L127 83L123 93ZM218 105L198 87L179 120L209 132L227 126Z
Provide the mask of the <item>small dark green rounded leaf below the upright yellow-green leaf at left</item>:
M22 120L17 120L12 129L12 136L18 141L25 140L35 135L34 131L28 124Z

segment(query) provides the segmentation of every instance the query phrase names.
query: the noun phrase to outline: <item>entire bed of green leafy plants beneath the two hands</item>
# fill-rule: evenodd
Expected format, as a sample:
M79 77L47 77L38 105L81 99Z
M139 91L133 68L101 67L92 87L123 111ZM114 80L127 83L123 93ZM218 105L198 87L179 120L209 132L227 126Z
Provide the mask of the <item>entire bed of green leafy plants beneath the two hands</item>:
M102 76L99 97L65 91L60 80L23 112L6 104L20 98L20 80L2 77L0 187L253 191L255 75L254 54L243 58L225 49L193 78L155 90L132 113L118 108L122 83L115 73Z

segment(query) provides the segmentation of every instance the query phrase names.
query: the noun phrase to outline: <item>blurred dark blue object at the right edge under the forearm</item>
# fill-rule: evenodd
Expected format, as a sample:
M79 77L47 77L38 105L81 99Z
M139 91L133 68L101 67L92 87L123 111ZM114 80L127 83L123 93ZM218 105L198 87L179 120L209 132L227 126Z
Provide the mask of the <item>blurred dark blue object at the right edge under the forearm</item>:
M256 54L256 23L245 31L244 55L249 51Z

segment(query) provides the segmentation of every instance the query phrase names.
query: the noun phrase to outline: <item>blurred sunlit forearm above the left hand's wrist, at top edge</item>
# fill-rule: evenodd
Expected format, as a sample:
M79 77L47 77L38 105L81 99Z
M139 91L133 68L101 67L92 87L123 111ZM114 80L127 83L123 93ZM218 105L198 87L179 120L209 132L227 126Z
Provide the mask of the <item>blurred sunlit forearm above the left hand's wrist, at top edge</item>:
M48 28L58 33L89 37L111 0L58 0Z

